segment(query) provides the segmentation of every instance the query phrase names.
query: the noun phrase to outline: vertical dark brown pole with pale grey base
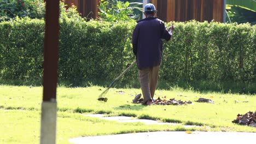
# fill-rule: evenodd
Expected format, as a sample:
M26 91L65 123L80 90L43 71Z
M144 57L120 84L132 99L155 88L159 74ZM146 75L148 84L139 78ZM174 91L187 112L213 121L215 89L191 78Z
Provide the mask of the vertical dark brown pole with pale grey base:
M56 143L58 45L59 0L46 0L41 144Z

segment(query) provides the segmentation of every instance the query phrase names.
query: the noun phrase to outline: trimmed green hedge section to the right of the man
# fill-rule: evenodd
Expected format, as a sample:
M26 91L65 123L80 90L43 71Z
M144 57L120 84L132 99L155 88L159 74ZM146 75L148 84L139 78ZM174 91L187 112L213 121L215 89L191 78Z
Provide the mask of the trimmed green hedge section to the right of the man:
M195 21L175 25L171 42L165 43L162 79L256 80L255 26Z

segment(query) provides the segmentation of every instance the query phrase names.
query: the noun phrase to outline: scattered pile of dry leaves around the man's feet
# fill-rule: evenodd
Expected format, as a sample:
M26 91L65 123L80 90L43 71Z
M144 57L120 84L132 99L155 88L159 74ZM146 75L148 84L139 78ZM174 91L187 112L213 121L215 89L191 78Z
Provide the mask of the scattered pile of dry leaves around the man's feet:
M170 99L166 100L166 96L162 97L164 99L161 99L158 97L158 99L153 99L153 105L187 105L192 104L192 102L189 101L182 101L182 100L176 100L176 99ZM136 95L135 99L132 100L132 103L135 104L144 104L143 98L141 98L141 94Z

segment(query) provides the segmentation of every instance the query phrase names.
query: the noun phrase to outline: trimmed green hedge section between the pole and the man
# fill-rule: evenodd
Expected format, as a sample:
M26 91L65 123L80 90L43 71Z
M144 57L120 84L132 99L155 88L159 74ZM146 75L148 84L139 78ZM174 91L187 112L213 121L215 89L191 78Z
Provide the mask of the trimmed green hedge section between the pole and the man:
M60 75L63 79L113 79L131 59L131 23L63 20ZM118 37L117 37L118 35ZM130 61L132 61L131 59Z

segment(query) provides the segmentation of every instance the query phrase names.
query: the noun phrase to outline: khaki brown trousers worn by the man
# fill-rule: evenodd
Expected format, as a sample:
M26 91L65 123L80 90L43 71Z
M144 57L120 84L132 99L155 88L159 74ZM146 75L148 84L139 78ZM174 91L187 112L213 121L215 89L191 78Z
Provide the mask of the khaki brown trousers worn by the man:
M144 103L148 100L152 100L154 97L155 89L158 85L158 73L159 65L139 70L139 82L141 83Z

